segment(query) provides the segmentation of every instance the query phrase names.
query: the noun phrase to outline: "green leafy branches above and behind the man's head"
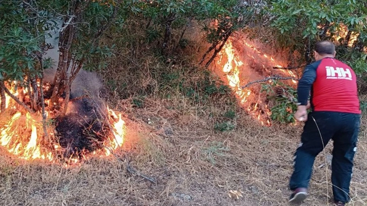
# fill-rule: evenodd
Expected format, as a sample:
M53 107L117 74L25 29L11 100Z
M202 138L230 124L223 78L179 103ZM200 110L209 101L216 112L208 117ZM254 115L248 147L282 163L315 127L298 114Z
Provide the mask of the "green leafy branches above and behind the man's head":
M304 54L300 65L311 61L311 48L318 40L337 44L337 58L348 62L357 74L367 71L367 3L365 1L271 1L267 26L283 47ZM352 37L356 38L352 38ZM364 64L363 64L364 62Z

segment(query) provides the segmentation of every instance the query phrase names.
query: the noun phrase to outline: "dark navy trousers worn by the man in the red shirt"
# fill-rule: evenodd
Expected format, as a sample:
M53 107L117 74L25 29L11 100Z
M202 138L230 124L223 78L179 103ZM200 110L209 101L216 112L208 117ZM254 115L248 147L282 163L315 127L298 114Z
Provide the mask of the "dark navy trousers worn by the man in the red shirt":
M324 149L329 140L333 139L331 181L334 200L348 202L359 124L359 114L309 113L301 135L301 144L295 152L294 172L289 183L290 189L308 187L315 157Z

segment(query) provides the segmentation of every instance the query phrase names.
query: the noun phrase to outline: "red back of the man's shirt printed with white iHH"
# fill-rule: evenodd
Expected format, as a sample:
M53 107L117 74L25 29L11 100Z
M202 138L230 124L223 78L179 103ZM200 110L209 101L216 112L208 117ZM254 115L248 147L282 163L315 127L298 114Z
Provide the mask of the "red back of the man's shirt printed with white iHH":
M354 71L336 59L322 59L316 69L311 101L313 111L360 114Z

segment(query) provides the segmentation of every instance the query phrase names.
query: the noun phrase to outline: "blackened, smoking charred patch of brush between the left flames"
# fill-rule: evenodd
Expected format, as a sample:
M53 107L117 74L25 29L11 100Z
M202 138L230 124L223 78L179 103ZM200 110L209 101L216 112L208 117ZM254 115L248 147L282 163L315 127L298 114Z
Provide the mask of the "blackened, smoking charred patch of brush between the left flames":
M81 158L89 152L103 148L103 141L111 134L103 110L96 99L79 97L70 100L70 110L64 117L55 118L58 143L63 158Z

